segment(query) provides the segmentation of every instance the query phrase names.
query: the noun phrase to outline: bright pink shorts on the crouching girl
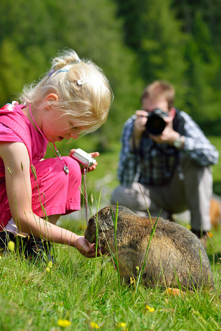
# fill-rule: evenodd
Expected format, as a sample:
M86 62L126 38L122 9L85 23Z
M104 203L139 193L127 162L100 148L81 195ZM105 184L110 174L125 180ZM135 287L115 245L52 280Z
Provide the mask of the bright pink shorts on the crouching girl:
M66 174L58 158L34 162L37 182L31 174L32 210L45 215L68 214L81 209L81 168L71 157L63 157L69 168Z

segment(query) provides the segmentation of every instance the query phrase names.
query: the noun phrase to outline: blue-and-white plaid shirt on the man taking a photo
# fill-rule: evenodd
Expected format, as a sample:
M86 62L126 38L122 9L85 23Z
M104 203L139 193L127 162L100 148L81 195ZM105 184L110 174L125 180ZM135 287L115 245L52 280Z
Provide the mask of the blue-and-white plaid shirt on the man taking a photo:
M219 154L215 146L188 114L181 111L180 115L185 120L185 145L182 151L179 150L179 156L185 154L200 166L216 164ZM137 116L133 115L123 127L118 179L126 186L133 181L144 185L162 185L173 175L178 150L167 144L154 143L147 135L143 135L138 150L131 150L130 138L136 118Z

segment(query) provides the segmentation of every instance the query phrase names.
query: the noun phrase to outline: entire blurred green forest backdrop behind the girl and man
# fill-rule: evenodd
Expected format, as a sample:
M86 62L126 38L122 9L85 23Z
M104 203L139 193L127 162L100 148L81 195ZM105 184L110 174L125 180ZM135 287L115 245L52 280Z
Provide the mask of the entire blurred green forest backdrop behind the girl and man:
M207 136L221 132L220 0L1 0L0 11L0 105L72 48L103 69L115 96L106 123L80 139L87 146L110 150L155 79L175 86L175 106Z

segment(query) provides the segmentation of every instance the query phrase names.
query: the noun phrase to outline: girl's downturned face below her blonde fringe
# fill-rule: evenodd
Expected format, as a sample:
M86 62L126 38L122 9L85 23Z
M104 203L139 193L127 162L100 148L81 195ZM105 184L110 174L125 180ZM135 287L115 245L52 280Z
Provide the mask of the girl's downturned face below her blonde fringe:
M78 139L82 127L75 118L68 114L60 116L60 111L50 108L45 111L45 116L42 120L42 132L49 142L62 141L63 139Z

